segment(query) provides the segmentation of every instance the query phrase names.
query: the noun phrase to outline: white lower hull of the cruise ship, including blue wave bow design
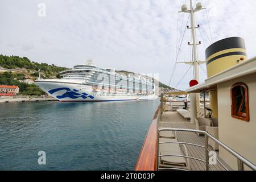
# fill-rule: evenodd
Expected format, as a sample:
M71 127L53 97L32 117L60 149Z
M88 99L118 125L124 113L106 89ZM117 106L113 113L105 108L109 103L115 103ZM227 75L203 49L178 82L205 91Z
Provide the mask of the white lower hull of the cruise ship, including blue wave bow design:
M155 94L97 92L90 85L63 79L37 80L35 84L49 96L62 102L133 101L155 100L158 98Z

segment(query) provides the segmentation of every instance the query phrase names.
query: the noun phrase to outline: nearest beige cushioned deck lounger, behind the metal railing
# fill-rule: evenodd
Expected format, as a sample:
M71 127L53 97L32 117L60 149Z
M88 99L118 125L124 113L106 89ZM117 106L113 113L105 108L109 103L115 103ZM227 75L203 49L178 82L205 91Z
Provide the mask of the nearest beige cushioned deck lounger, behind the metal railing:
M177 142L176 139L160 138L159 142ZM183 154L180 147L184 147ZM162 156L159 158L159 167L162 168L177 168L190 170L190 162L188 158L187 147L184 144L163 143L159 144L159 155L181 155L181 156Z

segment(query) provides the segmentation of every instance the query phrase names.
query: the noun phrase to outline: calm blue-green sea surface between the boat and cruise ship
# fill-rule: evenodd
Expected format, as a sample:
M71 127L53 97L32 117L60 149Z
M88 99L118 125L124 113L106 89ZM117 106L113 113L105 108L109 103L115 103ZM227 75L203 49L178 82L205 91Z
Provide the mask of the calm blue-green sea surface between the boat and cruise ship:
M133 170L158 105L0 104L0 170Z

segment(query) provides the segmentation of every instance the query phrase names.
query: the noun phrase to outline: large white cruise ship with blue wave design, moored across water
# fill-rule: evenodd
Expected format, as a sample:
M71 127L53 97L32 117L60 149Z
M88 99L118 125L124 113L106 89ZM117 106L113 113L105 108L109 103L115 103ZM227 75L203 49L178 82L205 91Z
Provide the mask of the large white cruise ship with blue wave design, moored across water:
M121 75L114 69L97 67L92 60L85 65L60 72L60 79L35 81L44 92L63 102L132 101L158 98L158 86L151 77Z

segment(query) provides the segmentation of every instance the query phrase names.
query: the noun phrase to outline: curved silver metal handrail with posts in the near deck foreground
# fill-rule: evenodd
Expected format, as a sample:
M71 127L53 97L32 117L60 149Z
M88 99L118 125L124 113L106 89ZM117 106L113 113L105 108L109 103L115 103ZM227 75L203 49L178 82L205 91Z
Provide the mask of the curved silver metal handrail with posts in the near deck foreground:
M208 154L208 138L212 139L214 142L216 142L218 145L223 147L226 151L228 151L230 154L232 154L235 158L237 158L237 163L238 163L238 170L243 171L244 170L244 164L249 167L250 169L256 171L256 166L251 163L249 160L245 159L243 156L238 154L236 151L232 150L228 146L226 146L224 143L220 142L220 140L214 138L212 135L207 133L206 131L200 131L200 130L191 130L191 129L159 129L158 130L158 169L159 169L159 137L160 137L160 132L161 131L184 131L184 132L191 132L191 133L199 133L199 134L204 134L205 135L205 161L208 161L209 159L209 154ZM163 142L162 142L163 143ZM209 164L206 162L206 168L209 170ZM226 168L225 168L226 169Z

